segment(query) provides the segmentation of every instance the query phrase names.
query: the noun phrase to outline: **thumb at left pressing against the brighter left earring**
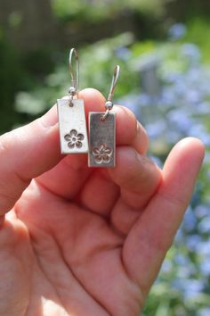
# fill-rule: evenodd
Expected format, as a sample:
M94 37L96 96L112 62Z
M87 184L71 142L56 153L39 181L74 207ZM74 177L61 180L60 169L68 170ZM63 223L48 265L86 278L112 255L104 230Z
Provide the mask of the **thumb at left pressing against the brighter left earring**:
M31 179L60 161L53 110L0 137L0 215L8 212Z

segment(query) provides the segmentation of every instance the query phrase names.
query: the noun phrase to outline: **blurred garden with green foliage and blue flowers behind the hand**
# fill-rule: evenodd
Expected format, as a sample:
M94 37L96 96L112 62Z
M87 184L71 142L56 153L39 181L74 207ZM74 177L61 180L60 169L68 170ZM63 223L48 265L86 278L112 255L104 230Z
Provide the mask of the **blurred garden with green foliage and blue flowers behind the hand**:
M210 315L209 13L206 0L0 0L0 133L67 94L75 46L81 88L107 96L120 64L115 100L147 129L158 165L182 137L206 144L196 191L145 316Z

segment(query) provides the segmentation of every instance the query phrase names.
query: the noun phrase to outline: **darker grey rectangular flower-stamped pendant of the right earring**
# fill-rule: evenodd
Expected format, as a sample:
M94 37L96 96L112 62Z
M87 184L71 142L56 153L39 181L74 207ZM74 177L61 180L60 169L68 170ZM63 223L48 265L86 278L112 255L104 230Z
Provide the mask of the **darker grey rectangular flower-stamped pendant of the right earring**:
M116 164L116 114L89 112L89 167L115 167Z

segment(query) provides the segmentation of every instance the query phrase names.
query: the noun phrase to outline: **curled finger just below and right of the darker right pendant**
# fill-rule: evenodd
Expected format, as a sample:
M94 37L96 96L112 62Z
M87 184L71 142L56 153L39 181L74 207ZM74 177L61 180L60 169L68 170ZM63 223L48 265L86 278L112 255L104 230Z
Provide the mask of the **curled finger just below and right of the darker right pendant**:
M120 198L111 213L114 227L127 234L141 210L158 189L162 172L149 158L133 147L117 149L117 167L109 175L120 187Z

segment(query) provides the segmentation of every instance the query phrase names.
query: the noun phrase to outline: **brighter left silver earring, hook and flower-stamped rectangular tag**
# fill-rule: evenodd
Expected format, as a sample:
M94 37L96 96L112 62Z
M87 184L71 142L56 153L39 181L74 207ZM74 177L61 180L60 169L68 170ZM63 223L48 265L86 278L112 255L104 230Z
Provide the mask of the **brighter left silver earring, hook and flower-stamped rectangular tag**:
M73 55L76 61L76 75L72 66ZM88 152L88 140L84 101L78 99L79 62L75 48L69 53L69 71L71 76L69 97L57 100L61 154L82 154Z

